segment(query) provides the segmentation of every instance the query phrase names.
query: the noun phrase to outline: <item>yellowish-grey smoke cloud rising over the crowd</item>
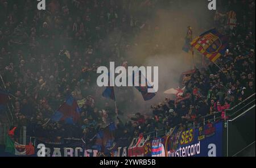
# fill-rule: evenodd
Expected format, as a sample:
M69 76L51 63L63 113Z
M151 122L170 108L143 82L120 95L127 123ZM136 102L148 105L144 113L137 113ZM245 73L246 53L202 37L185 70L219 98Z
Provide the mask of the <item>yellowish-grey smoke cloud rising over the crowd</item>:
M213 28L214 11L208 10L208 1L168 2L170 2L167 3L168 7L157 7L149 18L143 16L135 18L130 14L133 19L139 20L141 30L128 41L131 46L125 53L125 60L128 61L129 66L159 66L159 90L152 100L145 102L141 93L133 87L132 91L126 94L129 94L127 98L133 99L136 104L130 104L130 100L127 100L127 103L119 106L128 114L150 112L152 104L170 97L163 93L165 90L179 86L181 73L193 68L192 55L181 50L187 27L192 27L193 37ZM195 54L195 64L200 62L201 56ZM118 90L115 93L119 99L123 95L119 94Z

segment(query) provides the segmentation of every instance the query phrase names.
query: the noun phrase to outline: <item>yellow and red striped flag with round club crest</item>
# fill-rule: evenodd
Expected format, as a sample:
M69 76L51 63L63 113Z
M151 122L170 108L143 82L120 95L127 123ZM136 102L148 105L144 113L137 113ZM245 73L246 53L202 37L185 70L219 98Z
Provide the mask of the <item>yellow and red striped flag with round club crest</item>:
M200 53L215 62L228 49L228 37L221 35L215 28L204 32L191 42Z

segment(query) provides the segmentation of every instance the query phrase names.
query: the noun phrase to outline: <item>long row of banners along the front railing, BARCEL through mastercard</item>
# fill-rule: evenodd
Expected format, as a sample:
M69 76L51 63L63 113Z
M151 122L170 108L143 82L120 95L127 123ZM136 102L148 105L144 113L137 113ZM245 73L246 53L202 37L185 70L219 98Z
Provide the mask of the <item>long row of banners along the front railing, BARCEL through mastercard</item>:
M35 140L38 157L221 157L223 123L206 123L196 129L172 129L166 136L150 140L140 135L131 142L127 138L115 140L103 151L86 146L84 141L66 143ZM130 144L130 145L129 145ZM0 148L0 156L10 156Z

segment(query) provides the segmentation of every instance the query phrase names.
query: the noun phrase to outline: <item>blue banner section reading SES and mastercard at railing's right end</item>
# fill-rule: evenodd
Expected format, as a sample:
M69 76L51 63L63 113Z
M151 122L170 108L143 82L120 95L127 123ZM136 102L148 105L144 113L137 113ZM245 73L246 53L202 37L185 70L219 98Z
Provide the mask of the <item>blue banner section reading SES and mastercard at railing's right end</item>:
M175 130L165 137L164 144L168 157L221 157L222 122L187 131Z

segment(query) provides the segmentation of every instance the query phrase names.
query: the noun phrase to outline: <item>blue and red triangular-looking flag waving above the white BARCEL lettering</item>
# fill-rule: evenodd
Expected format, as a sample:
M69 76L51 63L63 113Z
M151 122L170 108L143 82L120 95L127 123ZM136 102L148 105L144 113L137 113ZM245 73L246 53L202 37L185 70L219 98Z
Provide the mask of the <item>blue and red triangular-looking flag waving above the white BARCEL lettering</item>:
M65 121L67 124L75 124L80 119L80 108L72 95L51 117L52 121Z

